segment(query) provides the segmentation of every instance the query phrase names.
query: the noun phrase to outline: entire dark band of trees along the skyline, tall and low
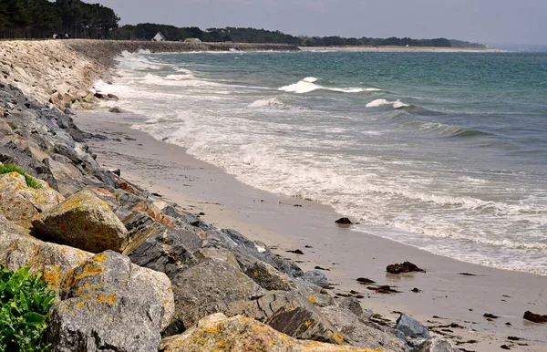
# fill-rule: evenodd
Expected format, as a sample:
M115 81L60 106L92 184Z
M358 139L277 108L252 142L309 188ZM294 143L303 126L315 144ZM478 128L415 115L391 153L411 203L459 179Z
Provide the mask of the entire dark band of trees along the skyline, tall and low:
M158 32L170 41L198 38L204 42L290 44L299 47L402 46L475 47L482 44L460 40L412 39L409 37L291 36L266 29L225 27L201 30L196 26L177 27L152 23L118 26L119 16L107 6L80 0L2 0L0 1L0 38L46 38L54 33L75 38L146 39Z

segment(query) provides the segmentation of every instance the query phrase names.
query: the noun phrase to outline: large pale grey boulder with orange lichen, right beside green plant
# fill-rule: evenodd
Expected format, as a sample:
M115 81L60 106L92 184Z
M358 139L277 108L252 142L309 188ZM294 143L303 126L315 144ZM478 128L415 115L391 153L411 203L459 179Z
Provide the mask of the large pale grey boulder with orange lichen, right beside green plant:
M150 281L154 275L158 280ZM160 283L169 285L165 274L139 269L124 255L93 256L67 274L62 301L50 310L51 351L158 350L165 313L158 293L169 291Z

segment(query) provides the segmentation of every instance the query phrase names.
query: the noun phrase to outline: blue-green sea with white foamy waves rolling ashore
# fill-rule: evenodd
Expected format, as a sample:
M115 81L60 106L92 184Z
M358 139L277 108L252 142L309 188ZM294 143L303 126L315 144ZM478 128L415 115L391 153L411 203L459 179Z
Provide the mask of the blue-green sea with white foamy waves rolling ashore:
M356 232L547 274L547 54L123 53L132 126Z

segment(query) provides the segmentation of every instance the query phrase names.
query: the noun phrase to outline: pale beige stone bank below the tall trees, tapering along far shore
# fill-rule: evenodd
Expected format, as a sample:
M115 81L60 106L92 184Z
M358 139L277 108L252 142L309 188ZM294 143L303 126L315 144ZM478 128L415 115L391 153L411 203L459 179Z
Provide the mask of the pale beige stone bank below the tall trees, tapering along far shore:
M2 82L20 88L41 103L59 109L92 109L102 96L88 88L98 79L109 81L123 51L152 53L190 51L296 51L298 47L277 44L182 43L104 40L44 40L0 42Z

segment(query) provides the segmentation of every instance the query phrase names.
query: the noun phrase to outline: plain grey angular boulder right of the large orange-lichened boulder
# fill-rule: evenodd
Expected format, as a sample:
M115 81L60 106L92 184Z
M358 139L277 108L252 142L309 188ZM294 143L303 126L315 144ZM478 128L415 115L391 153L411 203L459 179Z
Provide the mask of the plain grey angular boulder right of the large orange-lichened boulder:
M232 302L256 300L265 294L232 264L212 258L172 276L171 283L177 321L170 326L170 334L184 331L204 316L227 312Z

